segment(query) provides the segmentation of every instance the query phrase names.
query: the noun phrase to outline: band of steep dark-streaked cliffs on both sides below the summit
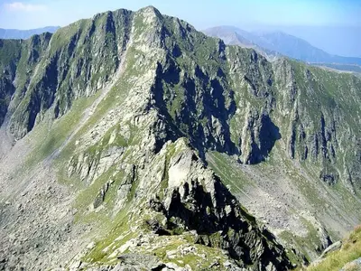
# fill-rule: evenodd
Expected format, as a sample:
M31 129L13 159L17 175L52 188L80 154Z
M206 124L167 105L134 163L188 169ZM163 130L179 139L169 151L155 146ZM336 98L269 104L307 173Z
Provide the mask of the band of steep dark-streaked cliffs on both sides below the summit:
M227 47L178 19L154 12L153 22L146 22L142 16L119 10L73 23L53 36L35 35L20 45L3 41L3 51L15 47L10 61L2 61L0 92L3 118L15 92L10 106L15 138L31 131L49 108L53 117L61 117L74 99L102 89L119 68L125 49L136 56L134 44L144 38L159 52L153 59L157 68L150 102L169 125L177 126L170 133L187 135L199 153L217 150L257 164L281 139L276 122L284 118L282 134L292 159L318 162L319 178L329 184L343 174L350 189L358 188L359 119L348 121L347 107L359 102L359 79L337 74L330 81L328 71L284 59L271 64L255 51ZM346 103L334 96L338 90ZM172 139L167 136L163 141ZM343 163L347 145L354 154Z

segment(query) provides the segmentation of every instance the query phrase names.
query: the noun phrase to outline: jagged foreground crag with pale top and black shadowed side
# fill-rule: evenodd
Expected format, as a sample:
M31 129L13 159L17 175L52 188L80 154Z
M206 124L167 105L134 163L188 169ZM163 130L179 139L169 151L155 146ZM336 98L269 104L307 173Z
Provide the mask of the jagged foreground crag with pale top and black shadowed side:
M222 248L240 266L252 270L291 268L281 245L267 229L259 229L236 198L191 150L171 157L168 189L153 210L162 211L167 229L196 230L196 243Z

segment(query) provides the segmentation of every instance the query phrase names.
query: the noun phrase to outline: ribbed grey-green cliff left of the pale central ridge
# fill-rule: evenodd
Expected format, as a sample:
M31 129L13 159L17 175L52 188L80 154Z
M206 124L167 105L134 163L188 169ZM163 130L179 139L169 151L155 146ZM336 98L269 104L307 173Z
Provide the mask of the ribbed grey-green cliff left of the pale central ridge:
M17 139L30 132L48 109L53 111L53 117L61 117L75 98L88 97L105 86L125 51L130 18L130 12L125 10L98 14L52 36L35 35L24 42L19 48L24 51L19 61L24 69L18 69L16 74L14 89L18 98L12 105L10 125Z

